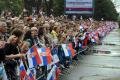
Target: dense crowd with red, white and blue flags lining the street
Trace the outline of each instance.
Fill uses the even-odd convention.
[[[65,15],[48,17],[40,14],[12,17],[7,14],[7,16],[2,16],[0,20],[0,80],[2,78],[6,80],[5,74],[8,80],[58,80],[60,67],[69,68],[71,60],[78,60],[78,51],[84,50],[88,45],[101,44],[101,39],[115,28],[118,28],[117,22],[95,21],[92,18],[71,20]],[[28,51],[33,51],[32,48],[36,46],[39,49],[49,48],[50,52],[48,52],[52,59],[48,54],[45,56],[51,59],[50,63],[46,65],[37,63],[37,60],[33,60],[33,57],[38,57],[35,53],[29,57],[36,64],[31,67],[32,62],[28,58]],[[65,48],[70,49],[71,55]],[[47,50],[45,52],[47,53]],[[39,57],[42,56],[38,54]],[[57,58],[54,57],[55,54]],[[26,72],[29,78],[24,76]],[[53,75],[53,72],[56,74]],[[54,78],[50,79],[50,75]]]

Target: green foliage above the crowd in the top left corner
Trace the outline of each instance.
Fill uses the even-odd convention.
[[[0,12],[3,10],[19,15],[23,10],[23,0],[0,0]]]

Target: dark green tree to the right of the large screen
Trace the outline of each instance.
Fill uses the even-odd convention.
[[[101,18],[104,18],[104,20],[117,20],[118,13],[111,0],[94,0],[94,1],[95,1],[94,18],[96,20],[101,20]]]

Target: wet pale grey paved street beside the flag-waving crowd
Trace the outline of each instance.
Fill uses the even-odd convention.
[[[112,31],[94,50],[72,65],[62,80],[120,80],[120,30]]]

